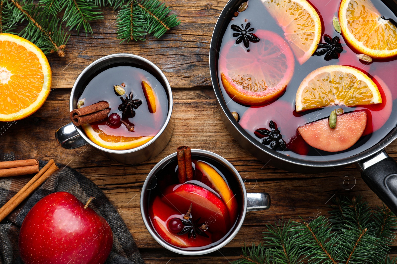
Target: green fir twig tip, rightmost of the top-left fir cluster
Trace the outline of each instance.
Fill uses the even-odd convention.
[[[90,22],[104,18],[98,6],[85,0],[64,0],[61,9],[65,9],[62,22],[66,21],[66,27],[69,27],[69,30],[76,28],[77,35],[81,25],[86,34],[87,32],[93,34]]]

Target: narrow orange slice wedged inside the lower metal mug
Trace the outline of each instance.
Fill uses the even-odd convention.
[[[237,200],[222,176],[213,167],[203,161],[194,161],[196,177],[204,184],[214,189],[224,201],[229,210],[230,222],[233,224],[237,218]]]

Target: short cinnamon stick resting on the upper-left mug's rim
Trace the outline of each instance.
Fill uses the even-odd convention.
[[[70,119],[75,125],[85,125],[88,123],[102,120],[110,113],[109,104],[99,102],[82,108],[74,109],[70,112]]]

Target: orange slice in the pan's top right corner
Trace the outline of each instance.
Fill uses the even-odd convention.
[[[370,0],[342,0],[339,22],[346,41],[361,53],[376,58],[397,54],[397,28]]]

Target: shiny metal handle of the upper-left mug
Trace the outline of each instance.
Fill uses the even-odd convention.
[[[88,142],[80,136],[73,122],[60,127],[55,132],[55,139],[62,148],[66,149],[75,149],[88,144]]]

